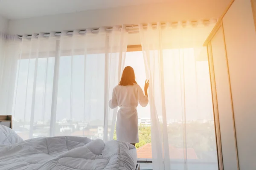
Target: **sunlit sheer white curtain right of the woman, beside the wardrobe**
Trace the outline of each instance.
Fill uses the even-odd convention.
[[[214,24],[139,26],[150,79],[154,170],[218,169],[207,50],[202,47]]]

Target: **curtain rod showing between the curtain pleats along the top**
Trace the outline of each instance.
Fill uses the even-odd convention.
[[[214,19],[211,19],[211,20],[202,20],[202,23],[203,23],[203,24],[209,24],[209,23],[211,23],[212,20],[213,20],[215,23],[217,22],[217,20],[214,18]],[[172,22],[171,25],[172,25],[172,26],[177,26],[178,23],[179,23],[179,22]],[[186,25],[186,23],[187,23],[187,21],[182,22],[183,25]],[[198,20],[191,21],[191,23],[192,23],[192,25],[193,25],[193,24],[196,24],[196,23],[198,23]],[[152,27],[156,27],[156,26],[157,26],[156,23],[152,24]],[[166,26],[166,23],[161,23],[161,26]],[[119,26],[119,27],[122,27],[122,26]],[[143,28],[147,28],[147,25],[143,25]],[[119,28],[119,29],[120,29],[120,28]],[[125,29],[126,29],[126,30],[130,30],[130,31],[128,31],[128,33],[137,33],[137,32],[139,32],[139,30],[138,30],[138,29],[139,29],[139,25],[134,25],[134,24],[128,25],[128,26],[125,27]],[[86,30],[87,30],[87,29],[80,30],[80,31],[79,31],[79,34],[84,34],[84,33],[86,33]],[[112,31],[112,30],[113,30],[113,27],[106,27],[105,30],[106,30],[106,31]],[[99,28],[92,28],[92,32],[98,32],[98,31],[99,31]],[[74,31],[67,31],[67,34],[68,34],[68,35],[72,35],[73,33],[74,33]],[[56,32],[54,35],[55,35],[55,36],[61,35],[61,32]],[[18,36],[19,36],[19,39],[22,39],[22,38],[23,38],[22,35],[18,35]],[[49,36],[50,36],[50,33],[44,33],[43,36],[44,36],[44,37],[49,37]],[[32,34],[28,34],[28,35],[26,36],[26,38],[31,38],[31,37],[32,37]],[[38,37],[38,34],[37,34],[36,37]]]

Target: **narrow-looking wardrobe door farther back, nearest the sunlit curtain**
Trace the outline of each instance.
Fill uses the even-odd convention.
[[[211,46],[221,134],[223,166],[224,170],[236,170],[237,165],[233,125],[233,108],[222,27],[218,29],[217,33],[211,40]]]

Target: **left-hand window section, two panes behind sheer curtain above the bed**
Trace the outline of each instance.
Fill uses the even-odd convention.
[[[35,62],[35,58],[17,62],[13,129],[23,139],[50,136],[55,58],[38,58],[37,69]],[[104,81],[105,54],[60,57],[55,136],[103,139]]]

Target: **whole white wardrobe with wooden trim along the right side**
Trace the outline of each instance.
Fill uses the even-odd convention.
[[[232,0],[208,49],[220,170],[256,170],[256,0]]]

